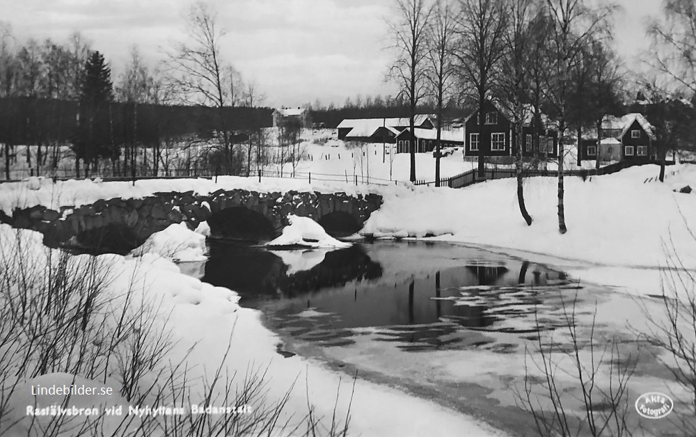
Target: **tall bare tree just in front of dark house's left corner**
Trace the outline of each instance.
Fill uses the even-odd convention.
[[[500,62],[505,57],[506,2],[503,0],[461,0],[457,56],[461,79],[473,88],[478,102],[480,144],[478,173],[484,176],[484,157],[491,148],[484,104],[500,76]]]

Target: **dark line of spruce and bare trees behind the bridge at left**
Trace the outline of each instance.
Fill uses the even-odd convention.
[[[191,6],[186,42],[173,42],[166,59],[145,65],[137,47],[118,77],[104,54],[80,33],[66,42],[19,42],[0,22],[0,153],[6,178],[16,145],[35,145],[27,164],[57,166],[68,148],[77,176],[108,166],[135,175],[139,148],[151,148],[150,169],[166,164],[161,148],[196,138],[212,146],[207,161],[224,173],[251,165],[239,145],[271,126],[264,95],[222,54],[225,33],[205,3]],[[244,134],[242,134],[244,133]],[[33,160],[33,161],[32,161]]]

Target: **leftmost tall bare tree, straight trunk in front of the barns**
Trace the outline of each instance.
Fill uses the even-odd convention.
[[[397,0],[396,19],[388,26],[394,38],[396,59],[388,77],[400,86],[400,96],[409,102],[409,132],[413,135],[418,102],[426,94],[426,29],[432,6],[424,0]],[[416,141],[411,138],[411,182],[416,182]]]

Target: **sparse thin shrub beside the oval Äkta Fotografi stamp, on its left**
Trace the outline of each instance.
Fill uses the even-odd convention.
[[[630,436],[628,381],[637,362],[616,337],[597,337],[596,309],[589,331],[578,330],[577,299],[561,296],[560,342],[535,317],[536,348],[525,350],[524,387],[516,389],[516,401],[534,418],[539,436]],[[571,395],[573,389],[580,394]]]

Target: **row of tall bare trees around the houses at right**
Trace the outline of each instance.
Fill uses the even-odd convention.
[[[478,108],[477,116],[485,120],[484,103],[492,100],[510,114],[516,138],[523,138],[525,124],[543,129],[543,115],[555,120],[558,229],[565,233],[569,146],[576,145],[580,165],[583,136],[589,130],[599,150],[607,115],[636,111],[647,116],[657,136],[661,180],[667,153],[690,146],[695,136],[693,1],[666,2],[665,17],[653,19],[647,29],[653,47],[642,54],[648,65],[643,74],[628,72],[613,49],[617,10],[610,0],[395,0],[387,23],[395,54],[389,77],[400,88],[398,98],[407,106],[411,128],[422,102],[434,102],[438,120],[452,101]],[[439,151],[440,123],[436,127]],[[480,127],[478,173],[483,176],[491,138],[484,122]],[[532,138],[533,150],[539,150],[539,136]],[[517,198],[521,215],[531,225],[523,174],[538,161],[523,159],[521,149],[516,147]],[[415,144],[411,180],[416,180]]]

